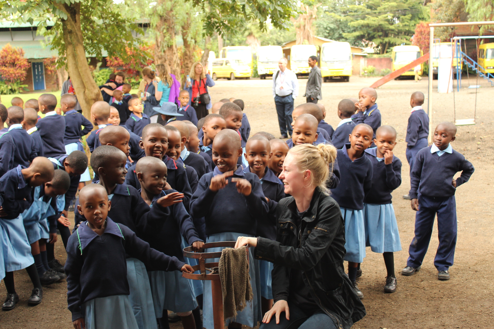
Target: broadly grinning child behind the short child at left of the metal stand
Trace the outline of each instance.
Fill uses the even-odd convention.
[[[142,130],[142,140],[139,145],[146,156],[154,156],[165,162],[166,168],[168,168],[168,176],[166,177],[166,183],[168,188],[173,188],[181,193],[184,193],[184,205],[185,208],[189,208],[190,198],[192,196],[192,190],[187,180],[187,173],[185,168],[178,165],[175,160],[166,155],[168,148],[168,134],[166,129],[160,123],[151,123]],[[137,174],[135,173],[135,164],[128,169],[128,173],[125,177],[125,184],[139,187],[139,181],[137,180]]]

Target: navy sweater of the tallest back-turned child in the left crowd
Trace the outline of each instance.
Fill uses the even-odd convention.
[[[65,119],[60,114],[47,115],[36,124],[43,141],[43,152],[46,157],[65,154]]]

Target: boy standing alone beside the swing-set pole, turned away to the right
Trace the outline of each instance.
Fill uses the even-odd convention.
[[[425,96],[422,92],[416,91],[410,98],[410,106],[412,112],[408,118],[407,126],[407,160],[410,165],[410,171],[413,168],[415,155],[419,150],[427,146],[427,138],[429,137],[429,116],[422,109]]]

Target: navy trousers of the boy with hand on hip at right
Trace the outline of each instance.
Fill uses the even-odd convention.
[[[429,248],[436,214],[439,246],[434,258],[434,266],[438,271],[447,271],[450,266],[453,266],[457,235],[454,195],[447,198],[433,198],[420,194],[418,195],[418,211],[415,214],[415,237],[408,249],[410,256],[407,266],[417,268],[422,265],[427,248]]]

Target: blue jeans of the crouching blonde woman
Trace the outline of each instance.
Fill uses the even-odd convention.
[[[285,312],[282,312],[278,325],[276,324],[276,315],[273,315],[271,321],[261,323],[259,329],[336,329],[331,318],[322,310],[310,315],[290,302],[288,302],[288,308],[290,320],[287,320]]]

